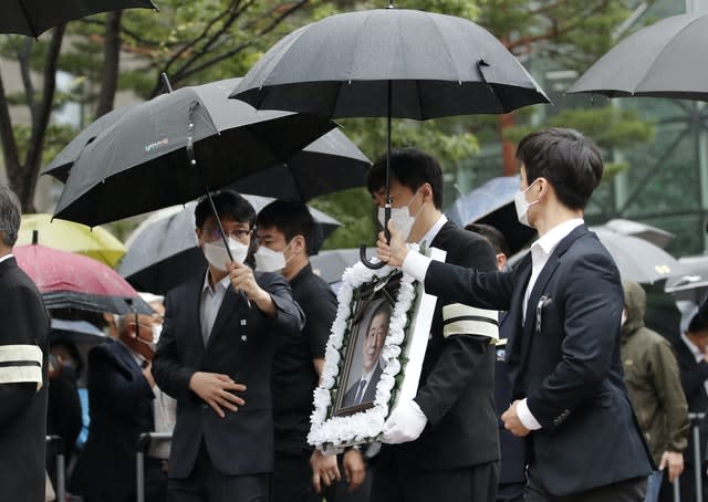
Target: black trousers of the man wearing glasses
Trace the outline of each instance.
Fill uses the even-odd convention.
[[[204,443],[195,468],[185,479],[169,479],[169,502],[268,502],[270,474],[223,475],[214,467]]]

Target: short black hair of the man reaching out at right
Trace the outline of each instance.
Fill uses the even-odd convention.
[[[525,166],[529,186],[548,179],[569,209],[584,209],[602,180],[600,148],[575,129],[551,127],[525,136],[517,159]]]

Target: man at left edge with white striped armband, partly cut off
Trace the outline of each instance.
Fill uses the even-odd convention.
[[[0,500],[44,500],[49,315],[12,247],[20,202],[0,182]]]

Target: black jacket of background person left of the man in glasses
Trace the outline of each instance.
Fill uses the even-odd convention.
[[[88,438],[70,489],[90,501],[124,502],[135,493],[142,432],[155,430],[153,389],[127,346],[114,339],[88,352]]]

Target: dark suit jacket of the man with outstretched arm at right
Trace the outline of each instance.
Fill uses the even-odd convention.
[[[522,323],[530,276],[530,255],[512,272],[433,262],[425,286],[444,299],[509,311],[512,397],[528,398],[542,426],[529,436],[530,454],[551,493],[647,475],[653,466],[620,358],[622,284],[607,250],[584,224],[575,228],[549,257]]]

